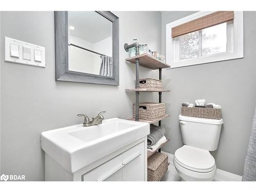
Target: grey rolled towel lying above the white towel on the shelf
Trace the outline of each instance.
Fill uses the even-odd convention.
[[[150,125],[150,134],[147,135],[147,147],[155,145],[165,134],[164,127],[154,124]]]

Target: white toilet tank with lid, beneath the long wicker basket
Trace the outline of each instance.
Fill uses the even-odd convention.
[[[223,120],[179,116],[182,141],[185,145],[215,151],[218,148]]]

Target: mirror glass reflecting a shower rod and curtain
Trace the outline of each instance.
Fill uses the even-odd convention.
[[[112,22],[95,11],[69,11],[69,71],[113,77]]]

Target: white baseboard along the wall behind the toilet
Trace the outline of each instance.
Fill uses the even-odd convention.
[[[162,153],[168,155],[169,163],[171,165],[174,165],[173,164],[174,155],[167,153],[167,152],[163,152],[163,151],[162,151]],[[221,170],[221,169],[217,168],[216,175],[214,177],[214,181],[242,181],[242,176],[232,174],[232,173],[226,172],[225,170]]]

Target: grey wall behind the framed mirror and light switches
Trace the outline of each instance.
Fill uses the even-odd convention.
[[[82,123],[84,113],[94,117],[106,110],[105,118],[131,118],[135,94],[135,65],[126,63],[125,42],[137,37],[152,49],[161,49],[160,12],[114,12],[120,21],[120,86],[56,82],[53,12],[2,12],[1,48],[4,36],[46,48],[46,68],[4,61],[1,52],[1,167],[5,174],[24,174],[27,180],[44,180],[44,153],[40,133]],[[140,22],[134,22],[140,18]],[[136,29],[136,31],[135,31]],[[153,75],[140,68],[140,77]],[[143,97],[143,94],[141,94]],[[141,98],[142,98],[141,97]],[[147,98],[154,98],[151,94]],[[143,98],[140,100],[143,101]]]

